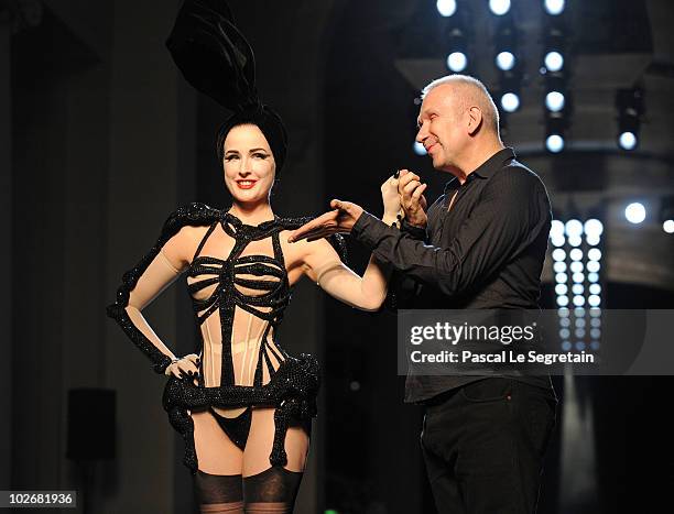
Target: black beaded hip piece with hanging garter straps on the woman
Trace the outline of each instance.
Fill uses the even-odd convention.
[[[194,422],[187,411],[220,407],[235,408],[247,406],[275,407],[274,442],[269,461],[272,466],[285,466],[285,434],[292,420],[308,422],[316,416],[316,395],[320,386],[318,361],[301,353],[298,358],[289,357],[281,363],[268,384],[261,387],[247,385],[225,385],[200,387],[189,379],[171,378],[164,387],[163,405],[168,422],[185,441],[183,463],[196,473],[198,461],[194,446]]]

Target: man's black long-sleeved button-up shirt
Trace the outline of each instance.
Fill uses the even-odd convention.
[[[363,212],[351,231],[380,261],[421,284],[415,308],[539,308],[552,212],[545,186],[512,149],[497,152],[464,184],[450,181],[427,217],[426,230],[405,225],[399,231]],[[405,401],[482,378],[410,375]],[[518,379],[550,387],[548,378]]]

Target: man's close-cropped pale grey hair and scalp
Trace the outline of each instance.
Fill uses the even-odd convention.
[[[437,92],[443,92],[444,95],[444,90],[446,90],[447,101],[452,101],[455,105],[457,113],[464,112],[471,107],[479,108],[482,113],[485,129],[496,134],[500,140],[499,110],[481,81],[469,75],[447,75],[428,84],[422,90],[422,99],[436,88],[442,88],[443,91],[438,89]]]

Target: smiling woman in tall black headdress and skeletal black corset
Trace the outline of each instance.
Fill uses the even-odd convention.
[[[205,30],[206,22],[217,30]],[[196,41],[195,34],[210,40]],[[219,83],[199,81],[195,56],[203,59],[216,46],[226,54],[216,56],[217,64],[225,59],[231,69]],[[252,51],[226,6],[185,2],[170,48],[193,85],[204,90],[208,84],[213,89],[205,92],[238,102],[217,143],[232,203],[222,210],[192,204],[171,215],[154,248],[124,275],[108,314],[155,371],[170,376],[164,407],[184,436],[202,512],[292,512],[316,413],[318,365],[311,356],[289,356],[276,340],[290,291],[306,275],[341,302],[376,310],[385,297],[387,275],[371,259],[358,276],[325,239],[287,242],[307,219],[278,218],[270,205],[286,155],[285,129],[257,99]],[[400,209],[396,183],[391,177],[382,186],[389,223]],[[200,348],[178,359],[142,310],[182,274]]]

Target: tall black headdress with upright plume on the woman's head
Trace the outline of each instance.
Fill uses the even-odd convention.
[[[276,162],[276,176],[287,154],[287,133],[279,114],[264,106],[256,87],[256,58],[233,24],[224,0],[185,0],[166,46],[185,79],[197,90],[233,111],[218,131],[216,150],[237,125],[260,128]]]

